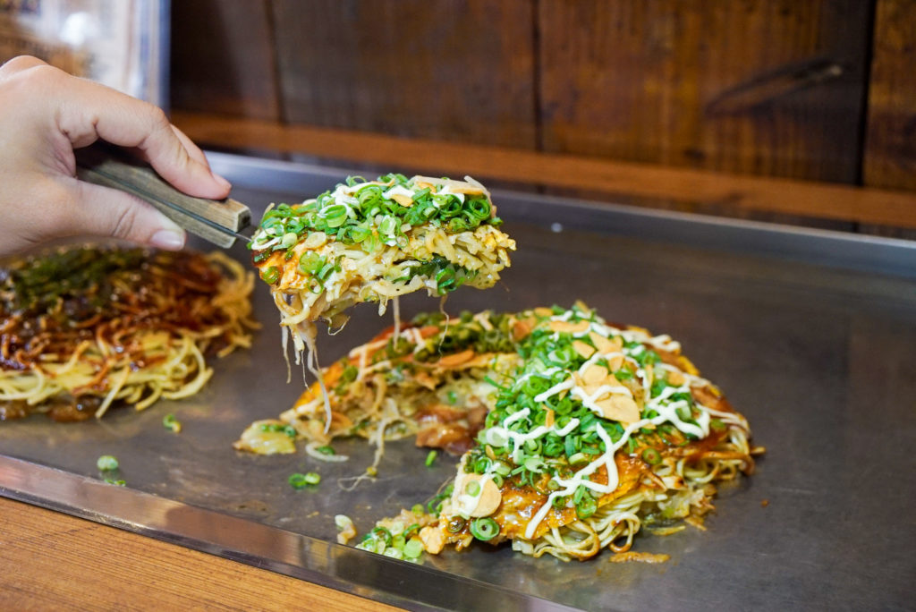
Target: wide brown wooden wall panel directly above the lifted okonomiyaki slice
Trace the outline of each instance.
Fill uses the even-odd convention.
[[[530,0],[275,0],[284,119],[534,147]]]

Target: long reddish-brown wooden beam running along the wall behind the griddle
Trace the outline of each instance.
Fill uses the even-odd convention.
[[[916,193],[906,191],[664,168],[215,115],[176,112],[172,121],[203,146],[301,153],[390,169],[456,177],[469,174],[618,196],[714,204],[736,211],[916,227]]]

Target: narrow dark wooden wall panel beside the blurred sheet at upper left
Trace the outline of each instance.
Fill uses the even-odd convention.
[[[171,104],[279,119],[269,0],[171,3]]]

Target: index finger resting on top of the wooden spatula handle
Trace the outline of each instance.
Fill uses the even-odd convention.
[[[137,148],[181,191],[212,199],[229,194],[229,182],[213,174],[200,148],[172,126],[161,109],[98,83],[67,78],[72,82],[67,83],[67,98],[60,101],[58,126],[73,147],[102,138]]]

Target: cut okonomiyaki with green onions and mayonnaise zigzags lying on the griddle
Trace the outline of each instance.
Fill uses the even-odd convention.
[[[475,539],[563,560],[627,552],[644,525],[700,525],[715,483],[750,474],[762,451],[679,343],[609,324],[581,304],[421,315],[397,340],[388,330],[325,376],[330,431],[316,385],[237,446],[256,450],[252,441],[286,428],[289,452],[295,439],[314,449],[337,436],[380,444],[415,435],[418,445],[462,454],[429,512],[384,519],[359,544],[375,552],[406,531],[432,553]]]

